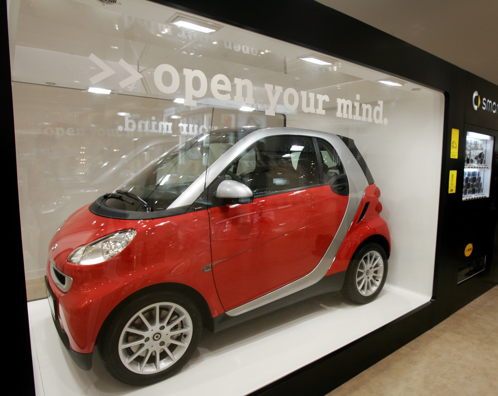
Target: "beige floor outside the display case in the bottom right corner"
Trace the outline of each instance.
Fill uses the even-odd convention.
[[[327,396],[498,395],[498,286]]]

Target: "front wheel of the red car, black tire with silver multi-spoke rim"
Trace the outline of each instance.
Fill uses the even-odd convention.
[[[100,358],[125,384],[154,384],[185,366],[202,328],[201,313],[188,296],[166,291],[142,295],[106,320],[98,340]]]

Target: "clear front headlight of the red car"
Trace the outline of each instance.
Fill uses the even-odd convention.
[[[75,249],[67,258],[69,263],[91,265],[103,263],[121,253],[135,238],[135,230],[124,230]]]

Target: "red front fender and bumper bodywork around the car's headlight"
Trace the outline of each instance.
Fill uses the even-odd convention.
[[[224,312],[212,271],[202,270],[211,264],[207,211],[141,222],[121,220],[116,227],[115,219],[102,218],[85,209],[86,212],[79,211],[80,216],[73,220],[93,223],[97,219],[104,228],[99,231],[100,236],[126,228],[137,230],[137,234],[116,257],[101,264],[76,265],[66,259],[77,246],[69,249],[69,245],[65,245],[63,236],[69,233],[61,229],[60,250],[64,254],[54,255],[52,260],[73,278],[73,283],[67,293],[62,293],[48,277],[57,305],[60,303],[63,310],[71,348],[76,352],[92,352],[100,328],[112,310],[126,297],[154,284],[176,283],[184,289],[191,288],[207,302],[212,317]],[[80,227],[79,224],[67,226],[76,231]],[[89,239],[92,238],[97,239]],[[64,327],[66,324],[62,323]]]

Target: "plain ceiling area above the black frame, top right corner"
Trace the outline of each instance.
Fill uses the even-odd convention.
[[[498,84],[497,0],[318,0]]]

